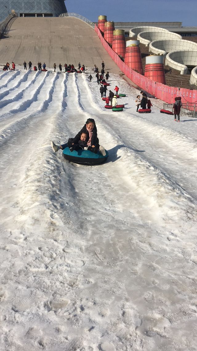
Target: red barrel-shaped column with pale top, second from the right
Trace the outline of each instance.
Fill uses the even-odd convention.
[[[125,51],[125,64],[136,72],[143,74],[142,58],[139,40],[127,40]]]

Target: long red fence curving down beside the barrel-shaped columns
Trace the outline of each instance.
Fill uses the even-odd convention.
[[[111,49],[108,43],[103,38],[99,28],[95,25],[94,30],[98,34],[102,45],[105,50],[111,56],[112,60],[117,64],[121,71],[132,80],[141,89],[147,91],[151,95],[154,95],[157,99],[161,99],[168,104],[172,104],[176,96],[181,96],[183,103],[193,103],[197,102],[197,91],[185,88],[169,87],[162,83],[154,82],[138,72],[133,71],[132,68],[125,65],[125,63],[119,58],[119,56]],[[180,89],[180,90],[179,90]]]

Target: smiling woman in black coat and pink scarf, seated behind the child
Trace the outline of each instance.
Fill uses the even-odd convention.
[[[80,132],[75,136],[75,138],[69,138],[68,143],[58,146],[58,145],[55,145],[53,141],[51,141],[51,146],[53,150],[57,152],[59,149],[64,150],[65,147],[67,146],[69,148],[72,148],[73,145],[78,144],[81,138],[81,134],[83,132],[86,132],[89,134],[89,138],[87,138],[88,139],[87,150],[90,150],[91,152],[94,152],[94,153],[97,153],[97,151],[99,150],[100,153],[103,156],[105,156],[106,155],[105,148],[99,145],[99,140],[97,138],[97,127],[93,118],[88,118],[87,121],[85,122],[85,125],[80,130]]]

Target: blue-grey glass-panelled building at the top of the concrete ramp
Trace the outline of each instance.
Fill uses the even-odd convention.
[[[0,22],[12,10],[21,17],[58,17],[67,12],[64,0],[0,0]]]

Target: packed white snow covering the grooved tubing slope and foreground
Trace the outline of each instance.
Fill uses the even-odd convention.
[[[0,350],[197,350],[197,119],[87,73],[0,72]],[[50,146],[87,118],[103,165]]]

